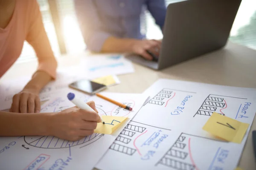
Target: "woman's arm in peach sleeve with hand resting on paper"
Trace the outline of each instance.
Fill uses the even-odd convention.
[[[39,113],[41,108],[39,92],[56,77],[57,62],[44,30],[36,0],[30,1],[28,15],[26,40],[32,45],[38,57],[38,70],[24,89],[13,97],[10,111],[16,113]]]

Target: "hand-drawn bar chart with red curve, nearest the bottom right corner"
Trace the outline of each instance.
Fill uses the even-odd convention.
[[[171,170],[233,170],[229,142],[181,133],[155,164],[155,169]],[[226,164],[225,164],[226,163]],[[229,168],[228,168],[229,167]]]

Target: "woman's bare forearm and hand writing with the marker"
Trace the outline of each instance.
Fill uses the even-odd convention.
[[[96,110],[94,102],[88,102]],[[101,122],[95,112],[77,107],[58,113],[9,113],[0,111],[0,136],[57,136],[76,141],[93,134],[97,122]]]

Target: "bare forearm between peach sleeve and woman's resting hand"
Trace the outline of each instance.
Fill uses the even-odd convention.
[[[44,71],[37,71],[24,89],[33,89],[36,92],[40,92],[41,89],[47,85],[47,83],[52,79],[52,77]]]

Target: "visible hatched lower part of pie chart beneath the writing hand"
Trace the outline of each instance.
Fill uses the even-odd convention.
[[[67,147],[74,147],[77,145],[85,147],[88,144],[96,142],[102,136],[104,136],[104,134],[93,133],[92,135],[85,136],[78,141],[67,141],[59,139],[55,136],[24,136],[24,141],[26,142],[26,144],[33,147],[39,147],[44,149],[61,149]]]

